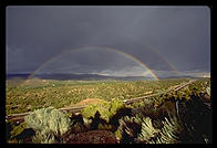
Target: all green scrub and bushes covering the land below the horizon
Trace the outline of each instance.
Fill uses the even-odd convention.
[[[32,85],[31,81],[38,83]],[[8,82],[7,115],[32,112],[23,123],[7,120],[8,142],[210,144],[211,107],[205,104],[210,103],[210,80],[200,78],[177,92],[164,93],[187,82],[29,80],[24,85]],[[123,102],[161,92],[128,105]],[[85,104],[80,114],[58,110],[81,105],[89,98],[97,102]],[[101,136],[89,141],[91,133],[110,138],[102,140]]]

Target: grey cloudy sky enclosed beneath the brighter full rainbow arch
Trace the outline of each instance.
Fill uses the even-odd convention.
[[[103,49],[85,49],[66,51],[56,59],[51,60],[38,72],[59,72],[59,73],[103,73],[111,74],[112,71],[123,72],[134,71],[134,75],[144,75],[147,70],[141,63],[124,54]],[[128,73],[128,72],[127,72]],[[136,74],[137,73],[137,74]],[[133,75],[132,72],[128,74]]]

